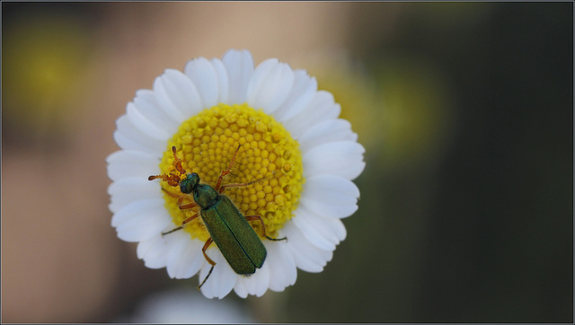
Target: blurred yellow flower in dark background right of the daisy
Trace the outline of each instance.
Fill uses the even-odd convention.
[[[434,160],[453,127],[453,99],[445,76],[429,62],[411,57],[382,60],[376,74],[385,107],[378,124],[386,162]]]

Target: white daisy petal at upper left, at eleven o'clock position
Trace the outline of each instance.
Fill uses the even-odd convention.
[[[202,109],[199,92],[190,78],[180,71],[166,69],[164,75],[155,78],[155,100],[165,114],[182,122]]]

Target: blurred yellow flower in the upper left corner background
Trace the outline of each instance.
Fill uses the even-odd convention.
[[[72,125],[86,90],[91,40],[64,13],[14,13],[4,26],[3,115],[11,130],[50,134]]]

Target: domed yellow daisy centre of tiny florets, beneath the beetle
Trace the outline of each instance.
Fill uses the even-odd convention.
[[[216,186],[221,171],[227,169],[238,145],[232,171],[224,176],[222,185],[229,183],[255,183],[226,188],[222,195],[230,198],[243,215],[261,215],[268,236],[275,238],[277,231],[293,215],[304,183],[302,157],[299,145],[288,131],[261,110],[247,104],[218,104],[184,121],[178,132],[168,141],[160,163],[163,173],[173,171],[172,146],[175,145],[181,165],[186,172],[196,172],[200,182]],[[182,196],[180,188],[166,182],[162,187]],[[193,202],[183,195],[182,205]],[[164,194],[165,206],[177,226],[199,213],[199,206],[180,209],[178,198]],[[261,224],[250,222],[262,237]],[[192,238],[209,238],[201,218],[185,225]]]

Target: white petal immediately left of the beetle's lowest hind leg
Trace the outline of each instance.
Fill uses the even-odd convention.
[[[188,278],[198,273],[204,262],[201,252],[203,242],[192,240],[190,233],[177,231],[165,236],[173,237],[173,246],[168,253],[166,269],[172,278]]]

